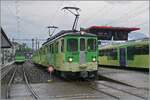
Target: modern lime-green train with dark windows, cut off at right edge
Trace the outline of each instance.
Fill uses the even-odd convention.
[[[149,39],[99,46],[99,65],[119,68],[149,68]]]

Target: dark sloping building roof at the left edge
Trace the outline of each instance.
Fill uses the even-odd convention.
[[[12,44],[1,27],[1,48],[11,48]]]

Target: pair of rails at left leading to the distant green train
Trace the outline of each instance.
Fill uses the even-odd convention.
[[[7,91],[6,91],[6,99],[10,99],[11,98],[11,87],[12,87],[12,83],[15,79],[15,77],[17,76],[17,70],[18,70],[18,66],[15,67],[15,70],[9,80],[9,83],[7,85]],[[21,69],[22,69],[22,81],[23,81],[23,84],[27,86],[27,89],[28,89],[28,92],[30,92],[30,96],[36,100],[39,100],[39,96],[36,94],[36,92],[34,91],[34,89],[32,88],[32,86],[29,84],[29,80],[28,80],[28,76],[27,76],[27,73],[24,69],[24,66],[23,65],[20,65]]]

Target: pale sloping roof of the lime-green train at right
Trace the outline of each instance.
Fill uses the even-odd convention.
[[[112,48],[118,48],[118,47],[127,47],[127,46],[142,46],[142,45],[149,45],[150,39],[143,39],[143,40],[134,40],[134,41],[127,41],[127,42],[122,42],[122,43],[115,43],[115,44],[109,44],[109,45],[104,45],[104,46],[99,46],[99,49],[112,49]]]

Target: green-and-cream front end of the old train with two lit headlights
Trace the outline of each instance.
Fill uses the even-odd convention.
[[[95,78],[98,65],[97,37],[92,34],[70,35],[65,37],[65,42],[62,71],[68,76]]]

